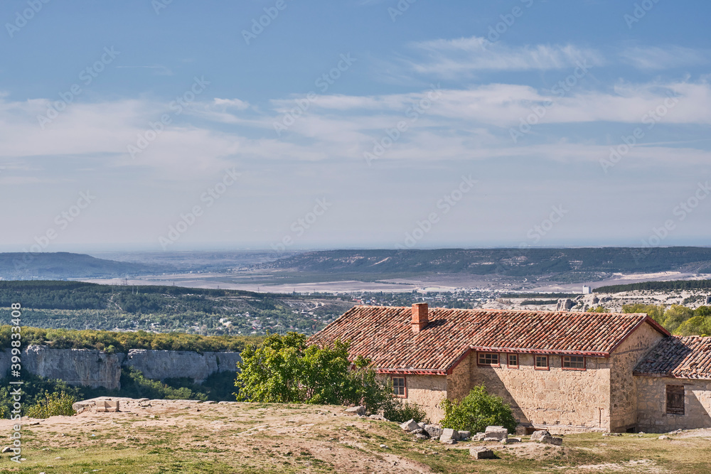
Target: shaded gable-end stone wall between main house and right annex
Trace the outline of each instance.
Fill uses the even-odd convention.
[[[637,362],[664,336],[644,323],[610,355],[610,431],[637,424],[637,389],[632,375]]]

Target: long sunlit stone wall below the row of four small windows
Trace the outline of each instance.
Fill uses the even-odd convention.
[[[548,355],[550,370],[535,370],[532,354],[518,355],[518,368],[477,365],[470,355],[471,385],[483,384],[511,405],[520,423],[555,433],[609,429],[610,370],[604,358],[586,357],[587,370],[563,370],[560,355]]]

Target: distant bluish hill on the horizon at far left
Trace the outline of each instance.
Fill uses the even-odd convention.
[[[102,278],[146,274],[158,269],[69,252],[0,253],[0,278],[6,280]]]

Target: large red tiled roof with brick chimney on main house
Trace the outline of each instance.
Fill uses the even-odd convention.
[[[410,307],[355,306],[309,342],[351,340],[351,357],[368,357],[379,372],[444,374],[469,350],[608,357],[643,323],[668,335],[646,314],[429,308],[417,334],[411,319]]]

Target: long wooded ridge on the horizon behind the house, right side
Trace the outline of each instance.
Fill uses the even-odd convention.
[[[474,274],[544,276],[550,274],[708,271],[711,248],[604,247],[573,249],[328,250],[306,252],[260,269],[322,274]]]

